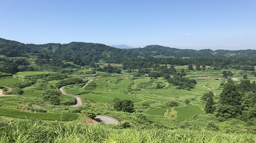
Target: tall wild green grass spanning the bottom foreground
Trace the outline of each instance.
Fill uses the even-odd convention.
[[[190,130],[113,129],[108,125],[63,124],[53,121],[7,121],[0,119],[0,143],[255,143],[254,134],[226,134]]]

